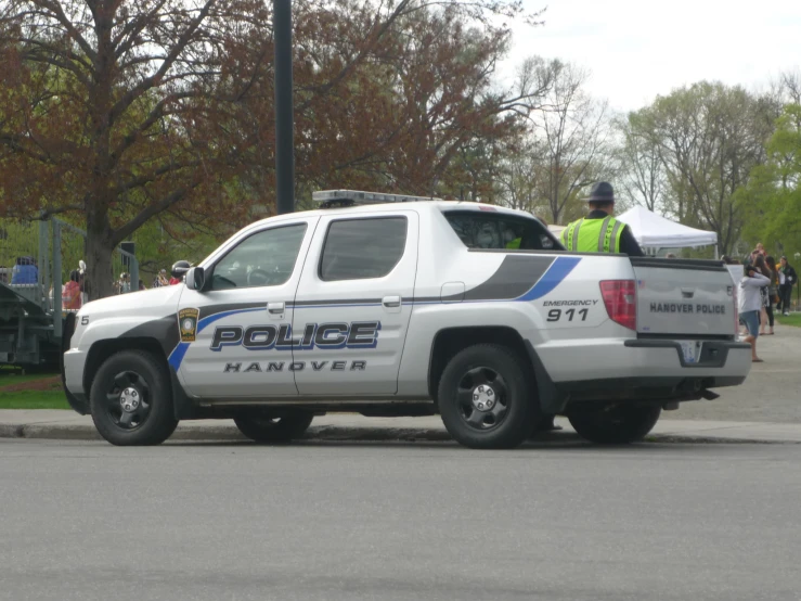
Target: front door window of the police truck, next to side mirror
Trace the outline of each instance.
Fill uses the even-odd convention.
[[[263,230],[249,235],[216,265],[211,290],[276,286],[292,277],[306,223]]]

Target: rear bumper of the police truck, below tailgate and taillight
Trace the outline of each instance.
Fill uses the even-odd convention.
[[[670,340],[576,341],[545,344],[537,354],[556,410],[584,400],[695,400],[742,384],[751,369],[750,345],[729,341],[703,341],[697,363],[686,363]]]

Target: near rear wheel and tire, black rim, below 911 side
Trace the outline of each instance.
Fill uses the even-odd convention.
[[[457,353],[445,366],[437,394],[449,434],[474,449],[519,446],[539,413],[528,372],[505,346],[479,344]]]

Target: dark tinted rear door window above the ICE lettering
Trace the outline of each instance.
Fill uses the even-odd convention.
[[[405,217],[334,221],[325,236],[320,279],[383,278],[398,265],[405,247]]]

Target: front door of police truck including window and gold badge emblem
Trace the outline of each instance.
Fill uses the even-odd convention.
[[[297,395],[293,305],[318,220],[293,219],[247,232],[206,267],[208,290],[183,292],[179,374],[190,395],[216,399]],[[196,331],[184,336],[193,318]],[[170,362],[175,366],[172,357]]]

